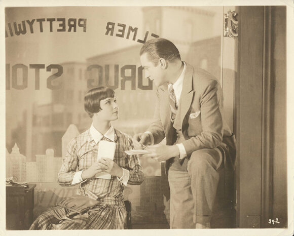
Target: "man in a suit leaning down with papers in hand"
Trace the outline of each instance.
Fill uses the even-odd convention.
[[[140,50],[145,76],[157,89],[155,121],[134,140],[145,157],[165,161],[170,186],[170,228],[210,228],[218,170],[235,167],[235,137],[222,114],[223,92],[215,77],[181,61],[164,38]]]

